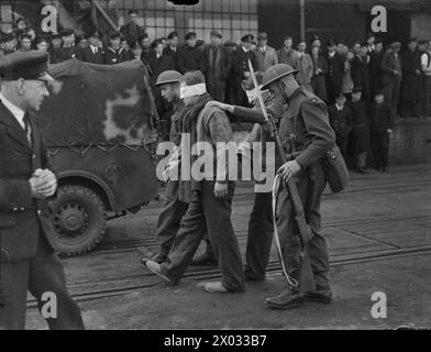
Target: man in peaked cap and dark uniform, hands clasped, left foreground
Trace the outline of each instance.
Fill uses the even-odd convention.
[[[27,290],[51,329],[84,329],[55,255],[48,200],[55,196],[57,179],[33,114],[49,95],[47,57],[30,52],[0,59],[0,330],[25,328]]]

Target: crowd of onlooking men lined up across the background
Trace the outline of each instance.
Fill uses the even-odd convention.
[[[401,52],[401,43],[385,47],[374,34],[364,42],[355,42],[351,48],[332,40],[323,45],[317,36],[310,45],[299,42],[295,48],[292,38],[286,36],[283,47],[275,50],[267,45],[266,33],[259,33],[257,41],[247,34],[239,44],[231,41],[223,44],[222,33],[216,30],[209,40],[206,44],[195,32],[189,32],[180,44],[177,32],[172,32],[152,42],[145,29],[137,24],[136,11],[132,10],[129,22],[119,32],[109,34],[93,31],[76,36],[73,30],[66,29],[48,37],[37,37],[19,19],[16,29],[1,36],[0,55],[38,50],[49,54],[51,64],[71,57],[99,65],[141,59],[167,131],[173,107],[162,99],[155,85],[162,73],[200,70],[212,98],[250,107],[241,87],[250,75],[248,59],[259,72],[278,63],[288,64],[298,70],[296,79],[301,87],[332,106],[330,118],[338,144],[350,168],[360,173],[366,173],[367,165],[387,170],[389,135],[397,117],[431,114],[431,41],[411,38]]]

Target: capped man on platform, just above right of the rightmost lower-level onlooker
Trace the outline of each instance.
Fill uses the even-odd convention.
[[[390,51],[385,54],[382,61],[383,92],[385,95],[386,102],[393,109],[394,117],[397,117],[398,112],[397,107],[402,80],[402,64],[399,55],[400,48],[401,43],[394,42],[390,44]]]

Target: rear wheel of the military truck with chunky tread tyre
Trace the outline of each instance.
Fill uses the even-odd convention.
[[[73,256],[90,252],[107,231],[103,201],[84,186],[62,186],[57,194],[51,207],[59,254]]]

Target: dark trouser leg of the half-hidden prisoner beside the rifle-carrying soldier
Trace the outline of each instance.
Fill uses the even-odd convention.
[[[273,235],[273,195],[272,193],[256,194],[248,221],[244,272],[247,278],[262,279],[265,277]]]

